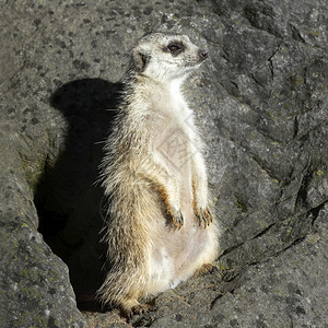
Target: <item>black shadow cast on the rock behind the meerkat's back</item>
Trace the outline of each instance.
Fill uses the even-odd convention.
[[[67,122],[65,127],[59,119],[65,141],[49,131],[49,143],[58,142],[51,148],[60,148],[60,153],[54,155],[56,161],[48,156],[34,202],[38,231],[68,265],[78,300],[79,294],[92,296],[103,282],[103,190],[96,181],[121,89],[121,83],[82,79],[61,85],[50,97],[51,107]]]

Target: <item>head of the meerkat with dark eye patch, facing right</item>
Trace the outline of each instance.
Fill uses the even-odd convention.
[[[132,68],[154,80],[184,79],[199,67],[208,54],[187,35],[153,33],[140,39],[132,50]]]

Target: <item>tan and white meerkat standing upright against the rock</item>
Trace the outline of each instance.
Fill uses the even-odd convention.
[[[181,92],[207,58],[188,36],[166,33],[132,50],[102,163],[110,269],[97,292],[128,317],[147,308],[139,298],[175,288],[218,255],[203,147]]]

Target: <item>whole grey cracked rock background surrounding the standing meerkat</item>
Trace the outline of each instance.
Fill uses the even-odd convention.
[[[328,327],[326,2],[2,1],[0,327]],[[104,278],[102,142],[152,31],[209,50],[186,95],[221,256],[127,324],[74,292]]]

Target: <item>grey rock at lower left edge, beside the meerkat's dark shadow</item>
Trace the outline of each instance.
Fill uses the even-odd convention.
[[[7,130],[7,133],[14,133]],[[3,129],[0,141],[0,326],[84,327],[67,266],[37,232],[33,192]]]

